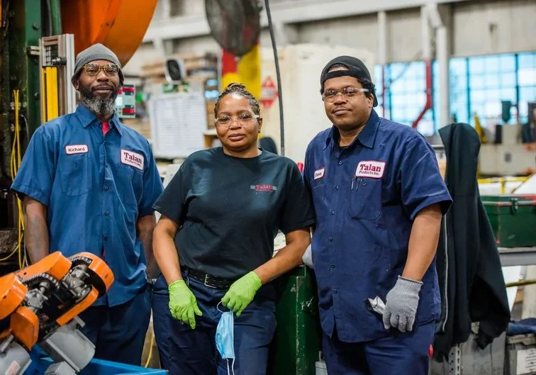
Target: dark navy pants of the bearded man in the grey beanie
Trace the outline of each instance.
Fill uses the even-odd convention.
[[[95,345],[95,357],[140,366],[151,316],[150,289],[118,306],[92,306],[79,315],[82,333]]]

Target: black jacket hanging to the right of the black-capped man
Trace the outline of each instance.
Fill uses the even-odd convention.
[[[464,123],[448,125],[439,133],[447,155],[445,181],[454,201],[437,249],[437,273],[446,301],[442,298],[443,320],[435,336],[434,357],[442,360],[454,345],[467,341],[471,322],[480,322],[476,342],[486,347],[506,330],[510,308],[501,259],[476,181],[479,136]]]

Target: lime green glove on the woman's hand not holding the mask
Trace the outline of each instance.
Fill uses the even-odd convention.
[[[167,287],[169,291],[169,311],[172,317],[189,324],[191,329],[196,328],[196,316],[203,315],[197,307],[196,296],[186,286],[184,280],[173,281]]]

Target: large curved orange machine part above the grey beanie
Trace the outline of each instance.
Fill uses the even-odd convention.
[[[74,34],[74,52],[102,43],[121,65],[142,43],[157,0],[62,0],[62,33]]]

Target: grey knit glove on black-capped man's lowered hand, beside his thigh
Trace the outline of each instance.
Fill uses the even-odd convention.
[[[400,332],[413,330],[415,315],[419,306],[419,291],[423,283],[398,276],[393,289],[387,293],[384,327],[397,328]]]

